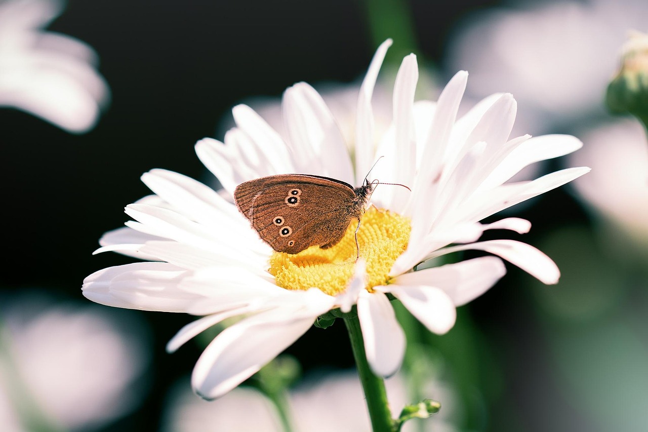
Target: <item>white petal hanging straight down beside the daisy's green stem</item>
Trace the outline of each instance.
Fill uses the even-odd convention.
[[[369,366],[378,376],[392,376],[405,354],[405,334],[387,296],[378,291],[360,292],[358,318]]]

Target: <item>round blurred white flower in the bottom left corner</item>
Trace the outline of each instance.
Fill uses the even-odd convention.
[[[134,384],[148,365],[141,323],[40,296],[4,300],[1,431],[29,430],[18,424],[34,409],[55,426],[87,431],[140,402],[143,383]]]

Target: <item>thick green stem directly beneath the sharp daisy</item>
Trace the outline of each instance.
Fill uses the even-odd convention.
[[[356,360],[358,375],[362,382],[373,432],[393,432],[395,423],[391,418],[391,411],[389,411],[385,383],[382,378],[379,378],[371,371],[369,363],[367,363],[360,320],[358,317],[349,317],[344,319],[344,323],[347,326],[347,331],[349,331],[353,357]]]

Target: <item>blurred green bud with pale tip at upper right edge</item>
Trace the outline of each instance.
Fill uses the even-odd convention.
[[[608,84],[605,104],[612,114],[648,118],[648,34],[633,31],[621,49],[621,67]]]

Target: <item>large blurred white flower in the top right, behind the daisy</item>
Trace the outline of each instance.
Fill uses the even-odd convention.
[[[474,14],[450,39],[446,66],[470,71],[476,97],[511,91],[527,132],[603,113],[629,29],[647,25],[645,0],[530,3]],[[533,109],[535,108],[535,109]]]

